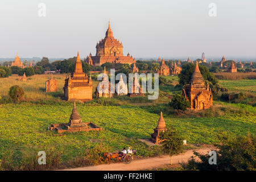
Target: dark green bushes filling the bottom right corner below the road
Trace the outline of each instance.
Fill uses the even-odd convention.
[[[218,148],[217,163],[209,164],[210,156],[202,155],[194,152],[195,156],[201,160],[197,162],[195,157],[188,161],[188,164],[183,164],[187,170],[210,170],[210,171],[243,171],[256,170],[256,138],[250,137],[222,137],[221,144],[216,144]]]

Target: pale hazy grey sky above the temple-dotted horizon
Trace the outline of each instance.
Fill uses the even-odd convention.
[[[256,57],[255,0],[1,0],[0,57],[95,55],[108,20],[124,55]]]

